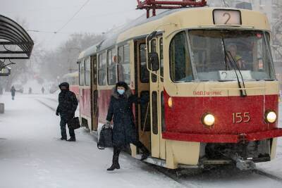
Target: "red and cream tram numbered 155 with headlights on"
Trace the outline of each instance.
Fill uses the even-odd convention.
[[[81,122],[97,131],[123,80],[150,96],[134,108],[148,163],[175,169],[235,161],[247,169],[271,161],[282,130],[270,35],[266,15],[243,9],[138,18],[80,54]]]

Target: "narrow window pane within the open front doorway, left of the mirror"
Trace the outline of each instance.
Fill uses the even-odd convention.
[[[139,46],[140,53],[140,81],[142,83],[149,82],[149,71],[147,70],[147,50],[146,44],[140,44]]]

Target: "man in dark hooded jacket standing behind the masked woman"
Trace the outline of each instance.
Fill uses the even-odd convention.
[[[59,106],[56,110],[56,115],[61,115],[61,140],[66,140],[66,124],[68,120],[71,120],[75,116],[76,108],[78,107],[78,99],[73,92],[69,90],[69,84],[63,82],[59,84],[61,92],[59,94]],[[68,139],[69,142],[75,142],[75,130],[71,127],[68,127],[70,132],[71,139]]]

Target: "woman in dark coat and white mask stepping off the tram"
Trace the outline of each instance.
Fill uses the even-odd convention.
[[[114,122],[113,127],[113,145],[114,156],[113,164],[107,170],[119,169],[118,156],[121,149],[128,144],[134,144],[142,150],[142,158],[144,160],[149,156],[149,151],[146,147],[137,140],[134,115],[132,104],[137,101],[137,96],[134,96],[125,82],[116,83],[111,95],[108,115],[106,116],[106,126],[111,125],[111,120]]]

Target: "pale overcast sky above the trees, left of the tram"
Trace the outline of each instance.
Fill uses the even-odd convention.
[[[73,32],[102,33],[115,25],[137,18],[145,11],[135,10],[135,0],[90,0],[61,33],[58,31],[87,0],[0,0],[0,14],[27,22],[26,30],[35,44],[54,49]]]

